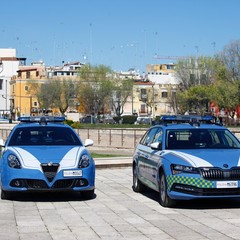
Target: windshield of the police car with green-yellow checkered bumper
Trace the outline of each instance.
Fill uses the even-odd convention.
[[[226,129],[167,130],[166,149],[233,149],[240,148],[238,139]]]

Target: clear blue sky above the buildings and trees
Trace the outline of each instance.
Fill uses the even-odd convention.
[[[114,71],[214,56],[240,39],[240,0],[1,0],[0,48],[27,64]]]

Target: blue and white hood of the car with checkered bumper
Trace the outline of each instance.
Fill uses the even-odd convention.
[[[240,149],[165,150],[162,155],[174,163],[183,161],[194,167],[240,166]]]

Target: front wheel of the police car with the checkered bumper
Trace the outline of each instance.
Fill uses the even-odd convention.
[[[163,207],[173,207],[176,201],[171,199],[167,193],[167,181],[166,176],[163,171],[160,173],[160,183],[159,183],[159,203]]]

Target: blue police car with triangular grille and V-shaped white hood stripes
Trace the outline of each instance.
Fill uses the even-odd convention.
[[[21,191],[79,191],[94,197],[95,163],[62,117],[21,117],[0,159],[1,198]]]

